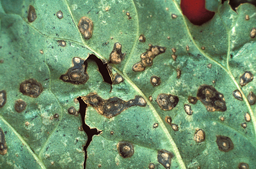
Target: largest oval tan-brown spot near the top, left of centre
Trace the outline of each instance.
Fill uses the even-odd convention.
[[[86,16],[82,16],[78,22],[78,29],[85,39],[89,39],[93,35],[93,21]]]

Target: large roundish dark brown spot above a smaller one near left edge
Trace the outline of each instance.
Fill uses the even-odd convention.
[[[43,91],[43,86],[40,82],[31,78],[21,83],[20,91],[24,95],[28,95],[30,97],[38,97]]]

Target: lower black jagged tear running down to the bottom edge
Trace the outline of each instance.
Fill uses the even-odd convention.
[[[93,136],[99,135],[102,131],[99,130],[98,128],[91,128],[89,125],[86,124],[85,117],[86,117],[86,109],[88,105],[81,99],[81,97],[77,97],[77,100],[79,101],[79,113],[81,114],[82,129],[84,130],[84,132],[86,132],[88,137],[86,145],[83,146],[83,150],[85,152],[83,168],[86,168],[87,148],[90,145],[91,141],[93,140]]]

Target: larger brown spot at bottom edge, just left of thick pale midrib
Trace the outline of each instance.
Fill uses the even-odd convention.
[[[166,169],[170,168],[170,164],[172,161],[172,158],[174,157],[174,154],[172,152],[169,152],[165,149],[161,149],[157,153],[157,160],[162,166],[164,166]]]

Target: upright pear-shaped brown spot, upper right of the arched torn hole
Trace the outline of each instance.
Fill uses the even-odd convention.
[[[122,53],[122,45],[119,42],[116,42],[110,53],[109,60],[111,63],[119,64],[124,59],[125,54],[126,53]]]

